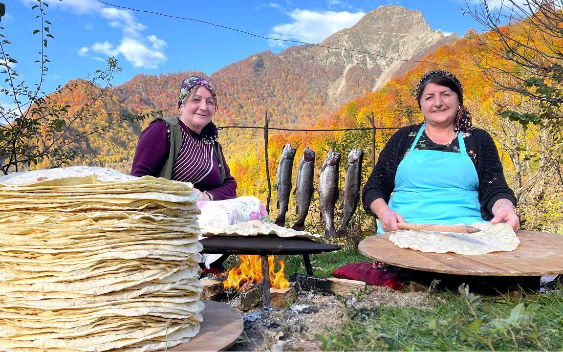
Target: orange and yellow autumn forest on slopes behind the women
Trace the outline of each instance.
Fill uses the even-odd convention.
[[[561,29],[561,23],[559,26]],[[509,29],[505,26],[502,30]],[[546,40],[549,34],[534,28],[513,26],[510,30],[521,41],[533,42],[530,44],[532,47],[544,52],[561,53],[561,36]],[[320,166],[328,149],[341,152],[344,161],[348,152],[355,147],[365,152],[362,173],[365,181],[372,168],[372,158],[377,160],[379,150],[396,128],[423,121],[413,95],[420,77],[428,70],[446,69],[457,75],[463,83],[464,104],[473,115],[473,124],[489,131],[497,142],[505,175],[517,195],[522,228],[548,232],[563,230],[561,130],[557,130],[553,123],[522,123],[507,118],[507,111],[521,112],[524,108],[528,109],[526,111],[538,110],[541,106],[538,108],[533,100],[523,97],[519,92],[499,86],[499,77],[502,77],[500,72],[517,73],[519,68],[495,50],[498,39],[499,34],[493,31],[470,31],[464,37],[436,48],[418,63],[403,66],[377,91],[363,88],[365,82],[373,82],[373,77],[368,77],[365,71],[352,68],[347,72],[347,92],[357,93],[341,96],[346,103],[338,106],[329,104],[329,92],[324,86],[325,82],[336,79],[339,73],[330,66],[303,59],[303,55],[298,55],[302,49],[299,47],[288,48],[279,55],[269,51],[260,52],[218,70],[209,77],[217,86],[218,93],[219,110],[214,122],[220,127],[220,141],[231,172],[238,182],[238,194],[255,195],[266,204],[266,161],[273,184],[280,152],[289,142],[297,147],[293,180],[297,173],[298,158],[305,146],[309,146],[316,152],[315,181],[318,181]],[[558,63],[561,63],[561,55]],[[494,73],[489,70],[487,73],[484,70],[487,67],[498,70]],[[77,155],[73,163],[110,167],[128,173],[138,135],[150,122],[151,114],[177,114],[178,86],[184,77],[191,74],[204,75],[201,72],[141,74],[120,86],[109,87],[101,99],[88,107],[87,117],[74,121],[70,126],[64,141],[68,145],[64,148],[77,148],[82,154],[82,157]],[[104,89],[82,80],[69,84],[74,88],[51,95],[48,104],[68,106],[70,114],[77,112],[88,99]],[[269,130],[267,155],[261,128],[266,113],[270,128],[285,128]],[[144,119],[120,118],[135,114],[148,115]],[[373,117],[376,127],[374,149],[372,124],[368,117]],[[258,128],[241,128],[244,126]],[[350,130],[335,131],[347,128]],[[52,164],[52,159],[44,158],[35,160],[30,167],[45,168]],[[345,166],[346,163],[342,162],[341,187]],[[315,232],[321,229],[316,197],[315,193],[312,214],[307,222],[308,229]],[[276,194],[272,190],[271,217],[277,213],[275,199]],[[288,223],[294,220],[292,202],[293,199]],[[339,202],[337,218],[342,212],[342,200]],[[352,232],[361,237],[363,231],[368,231],[372,226],[372,220],[358,207],[351,225],[356,230]]]

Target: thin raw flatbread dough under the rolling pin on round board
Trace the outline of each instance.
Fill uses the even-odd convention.
[[[421,252],[453,252],[462,255],[510,252],[520,244],[516,233],[508,224],[493,225],[490,222],[476,222],[471,226],[481,231],[472,234],[396,231],[389,235],[389,240],[401,248],[412,248]]]

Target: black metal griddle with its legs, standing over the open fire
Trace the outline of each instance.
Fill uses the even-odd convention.
[[[269,273],[267,256],[276,254],[303,255],[307,274],[312,275],[310,254],[332,252],[341,249],[334,244],[316,242],[308,238],[258,236],[210,236],[199,240],[203,245],[202,253],[248,254],[262,257],[262,273]],[[262,299],[264,308],[270,308],[270,277],[262,277]]]

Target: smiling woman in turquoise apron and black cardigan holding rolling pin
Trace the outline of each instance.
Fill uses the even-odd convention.
[[[471,125],[461,82],[434,70],[416,93],[425,122],[391,137],[364,186],[363,206],[379,219],[378,232],[399,230],[397,222],[519,228],[497,148],[488,132]]]

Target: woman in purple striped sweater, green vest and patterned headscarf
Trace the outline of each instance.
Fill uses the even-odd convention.
[[[202,77],[185,78],[178,111],[178,117],[156,118],[141,132],[131,175],[191,182],[200,200],[236,198],[236,181],[212,122],[215,87]]]

